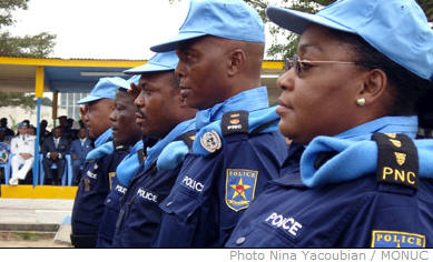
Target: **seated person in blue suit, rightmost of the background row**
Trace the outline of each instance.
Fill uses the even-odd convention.
[[[73,140],[69,153],[72,159],[72,183],[78,184],[81,179],[81,170],[83,168],[86,155],[94,149],[90,139],[87,138],[87,131],[81,128],[78,132],[78,139]]]

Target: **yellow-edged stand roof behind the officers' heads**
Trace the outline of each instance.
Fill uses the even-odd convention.
[[[37,67],[43,67],[45,92],[90,92],[101,77],[126,77],[121,72],[147,60],[87,60],[0,57],[0,91],[35,92]],[[275,97],[282,61],[264,61],[262,84]]]

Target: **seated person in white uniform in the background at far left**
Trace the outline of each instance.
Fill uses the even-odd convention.
[[[21,122],[18,125],[19,134],[11,141],[11,159],[12,178],[9,180],[11,185],[17,185],[18,180],[26,179],[27,173],[33,165],[35,160],[35,138],[27,134],[28,125]],[[22,168],[20,169],[20,167]]]

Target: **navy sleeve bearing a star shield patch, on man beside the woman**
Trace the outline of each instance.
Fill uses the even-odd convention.
[[[227,137],[224,150],[218,193],[222,235],[225,239],[266,183],[279,177],[279,167],[286,153],[283,138],[275,133],[249,139],[244,135]]]

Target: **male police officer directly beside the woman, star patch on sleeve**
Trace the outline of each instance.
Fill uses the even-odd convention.
[[[161,203],[155,246],[223,246],[269,179],[286,147],[260,87],[265,47],[259,16],[240,0],[190,2],[176,50],[180,94],[196,114],[196,139]]]

